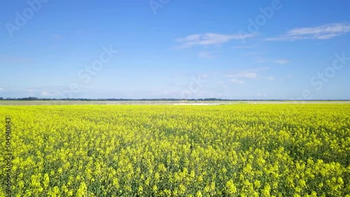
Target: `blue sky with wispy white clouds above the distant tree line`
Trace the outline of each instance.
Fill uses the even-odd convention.
[[[3,1],[0,96],[350,99],[350,1]]]

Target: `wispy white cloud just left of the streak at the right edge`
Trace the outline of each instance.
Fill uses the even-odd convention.
[[[221,45],[232,40],[251,38],[254,34],[193,34],[184,38],[177,38],[176,42],[181,43],[180,48],[191,48],[194,46]]]

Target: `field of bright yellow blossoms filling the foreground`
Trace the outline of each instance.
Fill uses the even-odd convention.
[[[12,196],[350,196],[350,105],[1,106]],[[0,196],[6,196],[0,158]]]

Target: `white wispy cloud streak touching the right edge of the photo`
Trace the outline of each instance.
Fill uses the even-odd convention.
[[[265,38],[266,41],[296,41],[303,39],[325,40],[350,32],[350,23],[324,24],[318,27],[291,29],[281,36]]]

